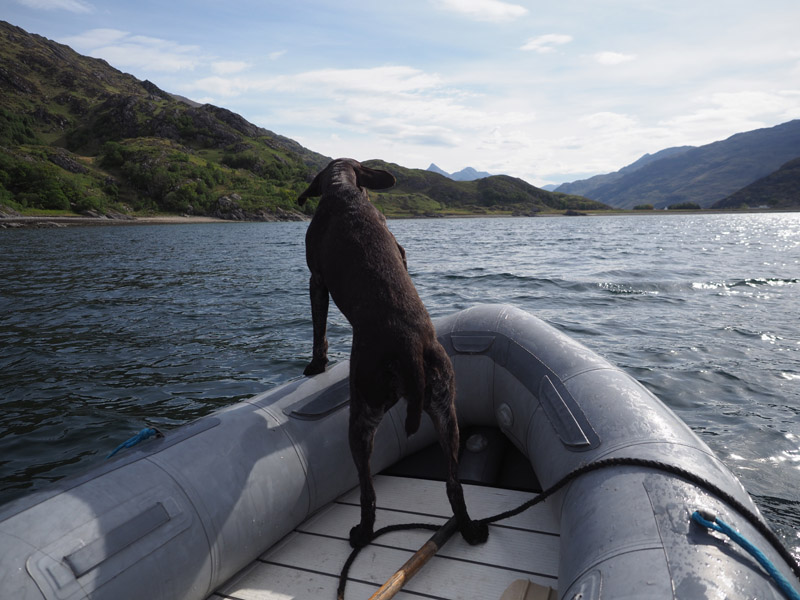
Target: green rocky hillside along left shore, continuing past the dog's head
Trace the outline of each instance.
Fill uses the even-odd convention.
[[[229,110],[169,94],[0,21],[0,206],[303,218],[295,199],[329,160]],[[531,214],[587,203],[511,178],[478,191],[474,182],[430,175],[447,183],[400,187],[382,195],[381,207],[395,215],[470,207]],[[305,211],[315,207],[308,202]]]

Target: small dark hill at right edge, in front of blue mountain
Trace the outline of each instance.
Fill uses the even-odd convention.
[[[800,158],[714,203],[711,208],[800,209]]]

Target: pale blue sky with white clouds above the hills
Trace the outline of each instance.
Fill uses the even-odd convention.
[[[0,0],[331,157],[557,184],[800,118],[798,0]]]

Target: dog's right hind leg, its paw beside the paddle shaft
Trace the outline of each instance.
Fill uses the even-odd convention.
[[[439,443],[447,460],[447,498],[463,538],[469,544],[482,544],[489,537],[489,526],[470,519],[464,501],[464,489],[458,480],[459,432],[453,403],[455,381],[452,367],[441,362],[436,365],[436,362],[439,362],[438,357],[434,360],[433,368],[429,363],[427,369],[429,379],[426,394],[429,395],[425,410],[439,434]]]

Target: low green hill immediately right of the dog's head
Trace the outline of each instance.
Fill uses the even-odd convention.
[[[393,188],[371,192],[375,205],[390,216],[443,213],[533,215],[539,212],[608,209],[600,202],[548,192],[507,175],[453,181],[430,169],[407,169],[381,160],[370,160],[364,164],[374,169],[386,169],[397,178]]]

